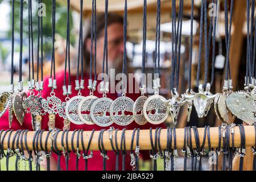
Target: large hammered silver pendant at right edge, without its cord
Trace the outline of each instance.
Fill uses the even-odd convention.
[[[226,98],[226,106],[242,121],[249,124],[256,123],[256,97],[253,92],[239,91],[230,94]]]

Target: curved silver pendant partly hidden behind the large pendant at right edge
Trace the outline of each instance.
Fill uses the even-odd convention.
[[[231,124],[234,122],[236,118],[231,111],[226,106],[226,98],[228,96],[226,94],[218,94],[218,96],[214,100],[214,110],[215,113],[222,122]]]

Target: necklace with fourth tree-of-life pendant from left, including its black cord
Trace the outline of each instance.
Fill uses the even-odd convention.
[[[126,97],[127,87],[127,55],[126,55],[126,38],[127,38],[127,0],[125,0],[125,14],[123,23],[123,73],[122,73],[122,97],[118,97],[110,106],[110,116],[114,123],[121,126],[129,125],[133,122],[134,101]]]

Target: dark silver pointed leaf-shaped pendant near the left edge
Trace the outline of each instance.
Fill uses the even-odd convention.
[[[26,114],[26,109],[24,109],[23,107],[23,101],[26,98],[27,98],[27,94],[23,92],[20,95],[14,96],[14,99],[13,99],[13,111],[20,125],[22,125],[25,114]]]

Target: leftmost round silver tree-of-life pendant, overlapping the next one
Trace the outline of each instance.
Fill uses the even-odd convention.
[[[76,125],[83,125],[84,122],[82,122],[82,120],[79,117],[78,114],[78,106],[79,103],[81,102],[81,100],[84,99],[84,96],[75,96],[72,97],[66,104],[65,107],[65,114],[67,119],[76,124]]]

